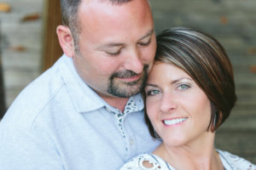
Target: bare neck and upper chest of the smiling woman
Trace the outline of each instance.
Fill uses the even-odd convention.
[[[177,170],[224,169],[214,149],[214,134],[206,140],[178,146],[160,144],[153,154],[160,156]]]

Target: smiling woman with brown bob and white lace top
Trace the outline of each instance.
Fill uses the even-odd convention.
[[[163,143],[122,170],[256,169],[214,148],[215,131],[236,103],[230,59],[215,38],[189,28],[161,32],[144,92],[149,132]]]

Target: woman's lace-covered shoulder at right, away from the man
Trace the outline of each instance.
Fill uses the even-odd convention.
[[[224,167],[237,170],[256,170],[256,165],[225,150],[217,150]],[[226,168],[229,169],[229,168]]]

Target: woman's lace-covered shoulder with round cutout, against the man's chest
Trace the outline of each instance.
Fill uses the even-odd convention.
[[[167,168],[163,168],[167,167]],[[126,162],[120,170],[160,170],[160,169],[170,169],[166,161],[162,160],[159,156],[155,156],[150,153],[141,154],[130,161]]]

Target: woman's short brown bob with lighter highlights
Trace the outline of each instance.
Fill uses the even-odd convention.
[[[233,69],[224,48],[214,37],[183,27],[161,31],[154,62],[176,65],[204,91],[212,106],[208,130],[214,132],[230,116],[236,103]],[[145,121],[151,135],[157,138],[146,109]]]

